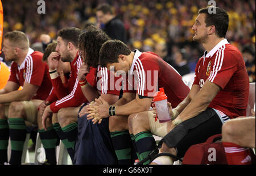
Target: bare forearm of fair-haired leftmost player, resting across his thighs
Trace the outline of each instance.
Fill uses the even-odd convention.
[[[28,101],[33,95],[25,93],[23,90],[15,90],[10,93],[0,95],[0,103],[10,103],[14,101]]]

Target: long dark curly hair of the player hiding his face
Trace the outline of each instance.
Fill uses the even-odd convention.
[[[79,36],[79,50],[84,52],[84,62],[97,68],[99,64],[101,45],[110,40],[106,33],[95,26],[89,26]]]

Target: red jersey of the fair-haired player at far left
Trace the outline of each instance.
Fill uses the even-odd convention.
[[[49,77],[48,65],[42,61],[43,53],[29,48],[22,64],[11,63],[11,74],[9,81],[23,86],[24,82],[39,86],[38,91],[32,99],[46,100],[51,89],[51,78]]]

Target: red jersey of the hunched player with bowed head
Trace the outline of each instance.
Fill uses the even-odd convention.
[[[135,75],[137,94],[153,97],[160,87],[168,97],[172,107],[176,107],[189,93],[180,74],[153,52],[135,50],[130,73]],[[129,81],[131,82],[131,81]]]

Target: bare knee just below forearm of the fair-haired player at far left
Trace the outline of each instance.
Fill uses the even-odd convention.
[[[8,114],[9,118],[23,118],[25,114],[23,104],[20,102],[11,102]]]

